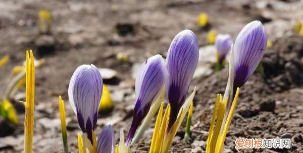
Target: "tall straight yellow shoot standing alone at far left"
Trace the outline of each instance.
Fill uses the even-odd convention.
[[[24,121],[24,152],[32,152],[35,100],[35,65],[33,52],[26,51],[26,102]]]

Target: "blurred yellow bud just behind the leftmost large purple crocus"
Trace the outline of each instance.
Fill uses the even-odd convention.
[[[106,85],[103,85],[102,97],[100,100],[99,111],[105,112],[114,107],[113,101],[111,98],[111,93]]]

